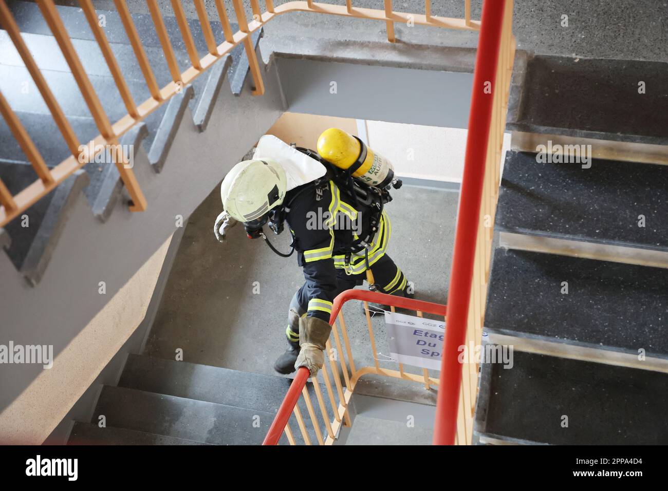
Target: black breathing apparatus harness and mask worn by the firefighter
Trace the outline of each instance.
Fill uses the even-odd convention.
[[[357,137],[355,137],[357,138]],[[359,138],[357,138],[359,140]],[[361,143],[361,140],[359,140]],[[296,150],[299,150],[299,152],[302,152],[303,154],[306,154],[307,156],[314,158],[325,168],[327,169],[327,172],[325,175],[319,179],[314,180],[313,182],[309,182],[308,184],[305,184],[302,186],[302,188],[297,192],[294,196],[290,198],[288,202],[283,202],[280,206],[277,206],[276,208],[273,208],[272,210],[269,210],[267,214],[261,216],[260,218],[257,218],[256,220],[252,220],[250,222],[244,222],[244,229],[246,230],[246,235],[248,235],[248,238],[259,238],[262,237],[265,239],[265,242],[267,242],[267,245],[269,246],[269,249],[271,249],[274,253],[281,257],[291,257],[293,253],[295,252],[295,236],[293,234],[293,231],[290,230],[290,235],[292,237],[292,242],[291,242],[291,251],[289,253],[281,253],[281,251],[278,251],[273,244],[269,241],[269,238],[267,235],[265,235],[265,232],[263,231],[263,226],[265,224],[269,224],[269,228],[271,229],[272,232],[275,234],[281,234],[283,232],[284,228],[284,222],[285,222],[285,217],[287,215],[287,212],[289,212],[291,208],[291,204],[297,199],[298,196],[301,196],[304,192],[313,190],[316,186],[321,184],[323,181],[327,180],[333,180],[339,188],[343,188],[347,190],[348,194],[351,196],[351,199],[353,201],[353,207],[356,209],[359,208],[360,205],[367,206],[369,210],[371,210],[371,215],[369,216],[369,228],[367,229],[368,232],[365,234],[363,237],[357,238],[351,245],[345,247],[343,249],[343,253],[345,254],[345,265],[349,264],[349,261],[351,259],[351,255],[353,253],[357,253],[361,251],[362,249],[365,249],[365,261],[367,262],[367,269],[369,267],[369,248],[371,247],[371,240],[373,240],[373,236],[375,236],[379,224],[380,224],[380,219],[383,214],[383,207],[385,206],[385,203],[389,203],[392,200],[392,196],[389,194],[389,188],[393,187],[395,189],[401,188],[401,180],[394,179],[383,187],[376,187],[376,186],[369,186],[368,184],[365,184],[364,182],[361,182],[360,180],[356,179],[353,177],[353,172],[355,172],[359,167],[363,164],[365,158],[367,157],[367,147],[362,144],[361,145],[361,152],[359,154],[359,157],[357,157],[357,161],[352,164],[349,168],[343,170],[341,168],[338,168],[337,166],[334,166],[333,164],[330,164],[322,158],[318,152],[314,152],[313,150],[310,150],[309,148],[303,148],[303,147],[298,147],[293,145]],[[347,274],[349,271],[346,270]]]

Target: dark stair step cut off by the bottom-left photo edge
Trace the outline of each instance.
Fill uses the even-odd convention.
[[[75,422],[67,445],[208,445],[173,436],[114,428],[100,428],[97,424]]]

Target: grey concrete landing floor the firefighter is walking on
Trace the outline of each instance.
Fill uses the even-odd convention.
[[[389,255],[415,283],[416,297],[445,303],[459,194],[403,186],[387,205],[392,220]],[[218,186],[190,216],[144,354],[243,371],[275,374],[286,345],[287,310],[303,275],[295,257],[275,255],[263,240],[246,238],[240,224],[219,244],[213,222],[221,210]],[[289,234],[272,237],[289,251]],[[259,293],[253,293],[254,284]],[[344,309],[357,367],[373,365],[359,303]],[[383,317],[373,319],[382,367],[387,339]],[[407,369],[407,371],[411,371]],[[413,369],[420,373],[420,369]]]

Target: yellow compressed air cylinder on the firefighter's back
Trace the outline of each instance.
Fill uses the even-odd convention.
[[[338,168],[348,170],[356,167],[353,177],[369,186],[384,188],[394,179],[394,169],[389,160],[339,128],[329,128],[320,135],[318,154]]]

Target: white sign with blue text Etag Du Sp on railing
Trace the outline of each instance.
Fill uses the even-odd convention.
[[[446,323],[385,312],[385,327],[393,359],[414,367],[441,369]]]

